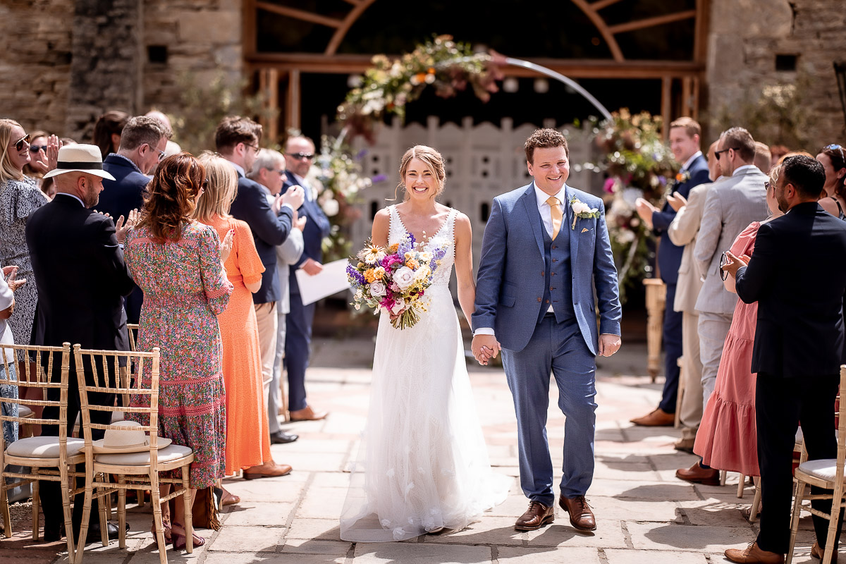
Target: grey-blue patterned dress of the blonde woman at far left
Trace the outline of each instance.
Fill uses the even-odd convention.
[[[25,176],[23,180],[0,183],[0,264],[17,266],[18,280],[26,278],[26,283],[14,293],[14,313],[8,319],[18,344],[30,343],[38,303],[36,277],[26,246],[26,218],[47,201],[35,178]]]

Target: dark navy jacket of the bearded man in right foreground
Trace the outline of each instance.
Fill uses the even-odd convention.
[[[838,375],[846,222],[816,202],[794,205],[758,228],[749,266],[738,269],[735,288],[745,304],[758,302],[752,372]]]

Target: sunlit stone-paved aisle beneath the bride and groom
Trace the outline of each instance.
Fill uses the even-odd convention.
[[[606,360],[599,371],[596,477],[588,494],[596,512],[596,534],[577,533],[558,507],[551,526],[529,533],[514,531],[514,519],[526,507],[515,478],[508,500],[464,531],[402,543],[343,542],[338,539],[338,515],[349,477],[344,468],[355,455],[365,423],[371,358],[369,341],[316,342],[315,366],[308,375],[310,401],[332,414],[325,421],[288,425],[288,430],[299,433],[299,441],[273,446],[277,462],[291,464],[294,472],[279,479],[227,480],[228,489],[241,496],[239,506],[223,513],[220,531],[201,531],[209,537],[206,546],[193,555],[168,552],[170,562],[705,564],[726,561],[722,550],[744,547],[755,538],[755,525],[740,512],[751,503],[751,487],[739,500],[736,474],[729,476],[725,487],[675,479],[676,468],[695,460],[673,450],[678,432],[629,424],[631,417],[657,404],[660,389],[648,377],[635,375],[644,370],[645,347],[624,344],[623,352]],[[471,381],[492,464],[516,477],[516,424],[503,371],[475,367]],[[548,430],[560,468],[563,415],[556,400],[553,396]],[[85,562],[157,563],[149,505],[134,510],[131,523],[127,545],[135,552],[119,550],[116,542],[107,548],[90,545]],[[25,523],[23,531],[28,526]],[[799,563],[812,561],[809,519],[804,519],[803,527],[795,560]],[[57,556],[61,545],[33,544],[21,528],[14,539],[0,539],[0,562],[67,561],[66,554]]]

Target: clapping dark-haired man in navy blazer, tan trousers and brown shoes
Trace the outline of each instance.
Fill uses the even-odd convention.
[[[250,226],[255,249],[265,267],[261,275],[261,287],[253,293],[253,308],[261,349],[262,395],[267,397],[273,380],[273,359],[276,356],[277,303],[282,298],[276,271],[276,245],[283,244],[288,238],[294,211],[302,205],[304,196],[299,187],[289,189],[285,194],[278,194],[270,204],[266,199],[266,189],[246,177],[246,172],[251,171],[255,163],[260,139],[261,125],[239,116],[223,118],[215,132],[217,151],[239,177],[238,192],[230,213]],[[257,466],[244,470],[244,477],[254,479],[280,476],[288,471],[290,468],[286,466]]]

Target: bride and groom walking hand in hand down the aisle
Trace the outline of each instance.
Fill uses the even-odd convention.
[[[554,519],[546,432],[551,373],[566,416],[559,505],[574,528],[596,528],[585,501],[594,470],[595,360],[620,347],[617,271],[602,200],[566,184],[563,134],[536,130],[525,154],[534,181],[493,200],[475,283],[470,219],[436,201],[446,178],[442,156],[424,145],[403,156],[404,201],[376,214],[372,243],[387,247],[410,233],[420,246],[447,253],[415,326],[395,329],[381,316],[342,539],[461,529],[508,495],[511,479],[492,471],[475,413],[448,287],[453,266],[475,359],[487,364],[502,353],[514,397],[520,486],[529,499],[514,528],[534,530]]]

